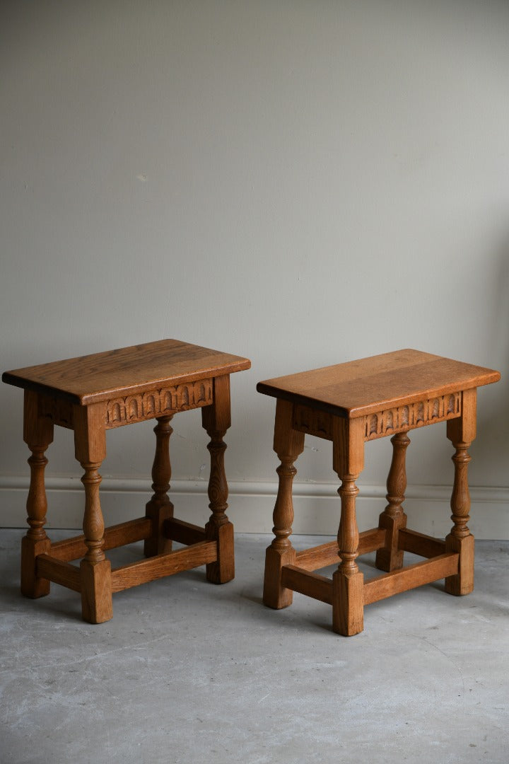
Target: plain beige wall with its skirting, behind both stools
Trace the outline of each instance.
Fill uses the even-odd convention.
[[[247,355],[232,517],[269,530],[274,403],[257,380],[404,347],[496,367],[470,475],[478,533],[509,538],[507,3],[4,2],[0,36],[3,369],[163,337]],[[21,393],[0,396],[9,524],[27,453]],[[205,434],[194,413],[174,422],[192,503]],[[146,487],[152,448],[150,425],[110,433],[111,512],[123,478]],[[366,453],[376,516],[388,443]],[[437,426],[408,458],[446,525],[450,454]],[[69,432],[48,456],[50,520],[79,522]],[[323,506],[333,533],[330,448],[310,439],[297,466],[303,529]]]

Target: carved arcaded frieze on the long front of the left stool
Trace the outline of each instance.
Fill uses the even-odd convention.
[[[112,428],[143,422],[143,419],[209,406],[213,401],[211,379],[186,382],[176,387],[163,387],[161,390],[148,390],[140,395],[108,400],[106,426]]]

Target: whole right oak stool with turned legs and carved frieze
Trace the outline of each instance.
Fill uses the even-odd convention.
[[[469,520],[467,452],[475,438],[476,388],[497,382],[498,371],[440,358],[416,350],[376,355],[260,382],[260,393],[277,398],[274,450],[281,461],[274,507],[275,539],[266,552],[263,602],[281,608],[292,604],[293,591],[332,605],[333,630],[345,636],[363,629],[363,608],[437,579],[449,594],[468,594],[474,584],[474,538]],[[406,488],[408,431],[447,422],[456,453],[451,499],[453,529],[445,541],[407,529],[401,507]],[[333,468],[341,487],[337,542],[295,552],[292,533],[292,481],[304,434],[333,443]],[[393,456],[387,481],[388,506],[379,527],[359,533],[356,480],[364,466],[364,443],[392,435]],[[376,551],[385,575],[364,583],[356,558]],[[427,558],[403,568],[403,553]],[[337,561],[332,580],[313,571]]]

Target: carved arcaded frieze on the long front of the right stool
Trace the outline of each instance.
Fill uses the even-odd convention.
[[[429,400],[418,400],[408,406],[379,411],[366,416],[365,440],[383,438],[394,432],[414,429],[433,422],[456,419],[461,414],[461,393],[450,393]]]

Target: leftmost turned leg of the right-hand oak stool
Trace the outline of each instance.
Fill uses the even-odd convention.
[[[293,591],[281,584],[284,565],[295,563],[295,549],[290,541],[293,523],[292,484],[297,470],[295,459],[304,450],[304,433],[292,429],[292,403],[277,400],[275,408],[274,451],[281,464],[277,468],[279,476],[278,494],[274,506],[275,538],[266,550],[265,578],[263,582],[263,603],[276,609],[292,604]]]

